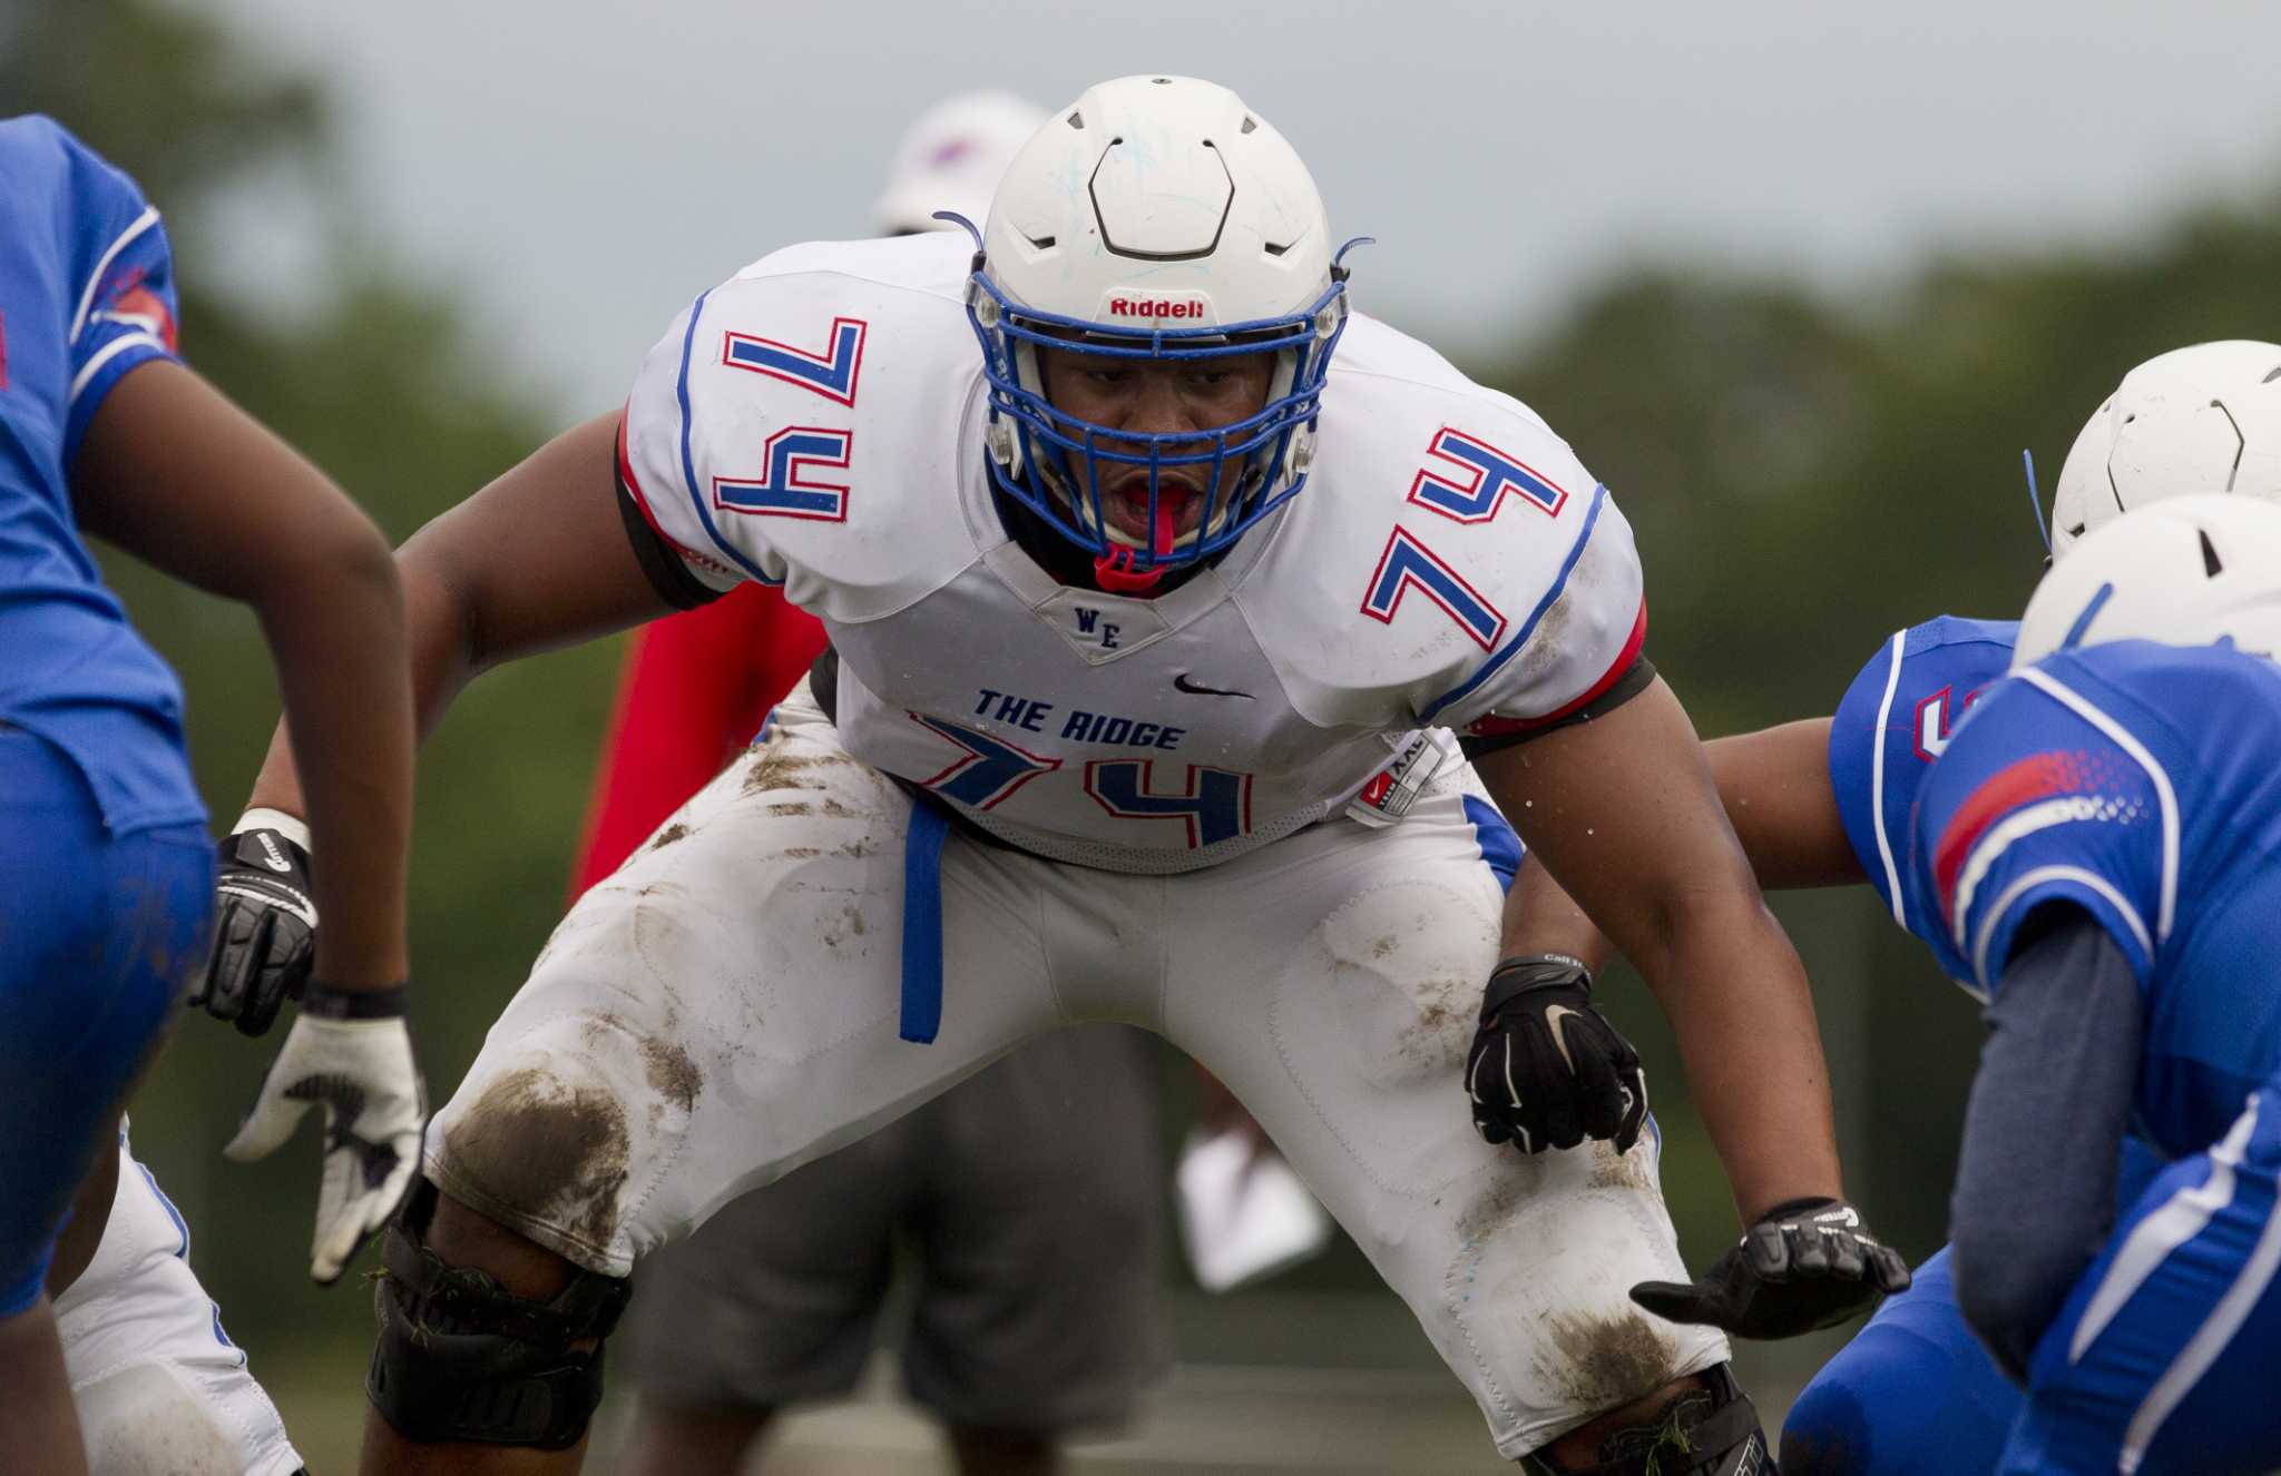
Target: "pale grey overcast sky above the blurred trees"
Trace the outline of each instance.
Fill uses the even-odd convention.
[[[331,84],[365,249],[463,290],[566,415],[741,262],[860,235],[903,123],[967,87],[1234,87],[1334,233],[1380,240],[1357,301],[1455,356],[1638,258],[1850,297],[1932,249],[2142,242],[2281,183],[2258,0],[180,2]],[[312,235],[265,210],[246,283]]]

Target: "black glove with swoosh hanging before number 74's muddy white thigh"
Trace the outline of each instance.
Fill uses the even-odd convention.
[[[1489,974],[1464,1090],[1480,1136],[1521,1152],[1585,1138],[1626,1152],[1647,1122],[1640,1052],[1592,1008],[1592,972],[1562,954],[1508,958]]]

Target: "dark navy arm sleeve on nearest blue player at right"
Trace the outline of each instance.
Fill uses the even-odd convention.
[[[1950,1205],[1957,1303],[2014,1380],[2112,1225],[2142,1033],[2099,922],[2046,903],[2030,933],[1987,1015]]]

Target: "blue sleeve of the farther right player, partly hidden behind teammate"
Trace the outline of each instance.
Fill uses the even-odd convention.
[[[1861,871],[1909,933],[1937,919],[1909,876],[1909,812],[1932,760],[1980,691],[2012,664],[2019,621],[1937,616],[1898,630],[1829,721],[1829,789]]]

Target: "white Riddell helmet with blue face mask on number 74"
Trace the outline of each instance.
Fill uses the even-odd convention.
[[[1211,82],[1122,78],[1056,112],[1015,155],[967,315],[990,379],[997,486],[1093,552],[1104,582],[1147,589],[1300,490],[1346,326],[1346,271],[1314,178],[1266,119]],[[1056,342],[1134,360],[1273,351],[1275,372],[1248,420],[1134,436],[1045,399],[1038,344]],[[1209,486],[1202,520],[1175,536],[1156,495],[1177,465],[1202,468]],[[1147,470],[1147,538],[1102,516],[1102,472],[1118,468]]]

